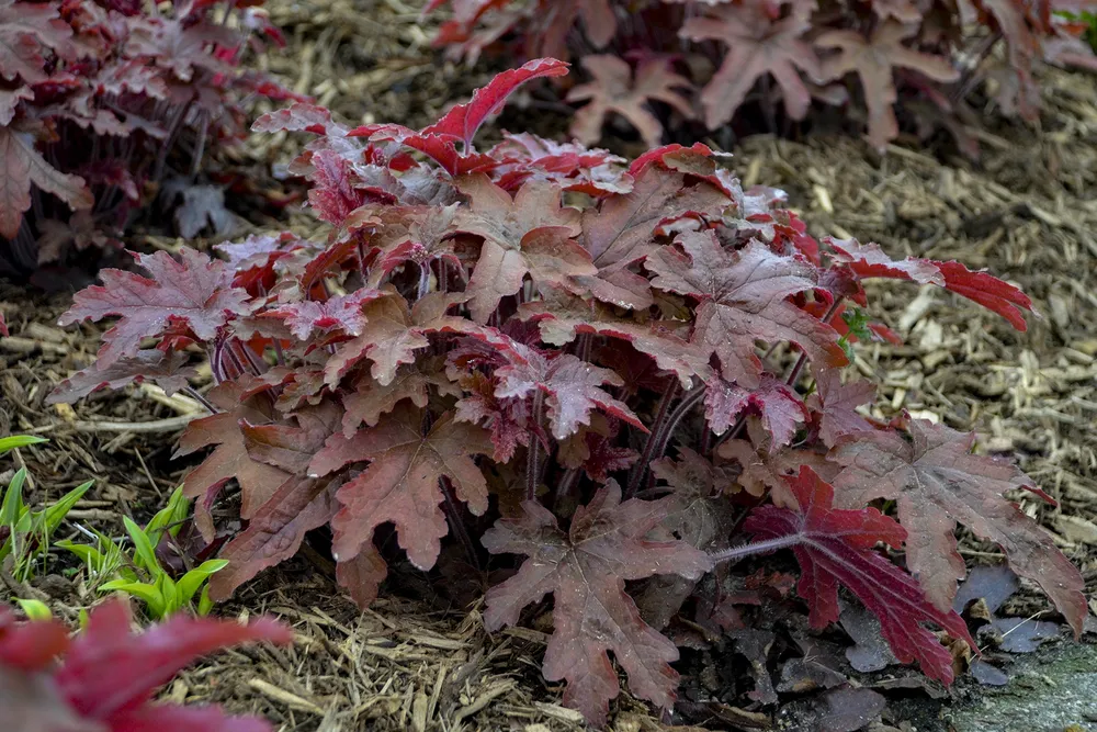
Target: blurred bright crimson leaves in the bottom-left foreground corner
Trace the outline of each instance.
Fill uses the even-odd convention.
[[[241,626],[178,616],[143,633],[131,629],[128,606],[93,609],[75,637],[56,620],[18,622],[0,607],[0,703],[4,729],[41,732],[270,732],[251,717],[217,707],[152,701],[154,692],[200,656],[250,641],[290,643],[272,620]]]

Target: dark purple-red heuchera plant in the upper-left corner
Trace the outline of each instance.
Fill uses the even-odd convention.
[[[246,132],[245,94],[287,98],[238,68],[248,45],[281,42],[257,3],[242,4],[0,0],[9,269],[112,244],[178,149],[196,169],[204,150]]]

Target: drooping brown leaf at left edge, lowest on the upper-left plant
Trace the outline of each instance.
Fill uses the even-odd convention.
[[[53,193],[73,211],[91,209],[94,203],[84,180],[46,162],[34,149],[30,133],[0,126],[0,167],[4,171],[0,178],[0,237],[5,239],[19,235],[23,212],[31,207],[32,184]]]

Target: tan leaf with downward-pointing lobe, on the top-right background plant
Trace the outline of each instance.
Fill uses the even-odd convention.
[[[858,31],[827,31],[815,40],[821,48],[837,48],[838,54],[823,63],[827,79],[840,79],[856,72],[869,108],[869,143],[883,149],[898,135],[892,106],[898,99],[895,69],[912,69],[936,81],[955,81],[960,72],[942,56],[915,50],[903,41],[917,33],[917,25],[886,21],[869,38]]]

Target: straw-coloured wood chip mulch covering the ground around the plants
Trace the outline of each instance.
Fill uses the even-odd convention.
[[[350,122],[422,125],[489,74],[490,63],[473,71],[442,63],[429,47],[431,29],[419,24],[417,2],[272,0],[268,8],[290,47],[264,65]],[[732,167],[747,184],[784,189],[814,235],[877,241],[894,257],[959,259],[1020,284],[1033,297],[1040,316],[1029,318],[1029,329],[1019,334],[961,299],[878,288],[872,314],[900,331],[905,345],[859,347],[856,368],[881,384],[880,417],[907,409],[979,430],[983,451],[1016,455],[1059,502],[1052,508],[1019,497],[1024,510],[1055,536],[1093,596],[1097,78],[1051,70],[1042,88],[1039,124],[995,123],[992,116],[988,129],[970,131],[981,143],[979,161],[954,154],[947,143],[926,148],[900,140],[880,156],[849,136],[755,136],[734,150]],[[301,144],[274,135],[249,143],[248,155],[270,169]],[[271,223],[257,218],[251,225]],[[278,225],[319,230],[296,210]],[[134,243],[179,244],[156,237]],[[149,516],[178,485],[189,465],[171,460],[172,444],[201,408],[147,386],[94,395],[73,407],[46,406],[52,386],[87,365],[98,348],[97,328],[56,327],[67,301],[0,286],[0,312],[12,330],[11,338],[0,339],[0,435],[31,432],[50,440],[14,453],[16,465],[25,464],[37,480],[29,491],[32,502],[56,499],[94,478],[70,516],[117,536],[123,515]],[[0,475],[0,483],[7,476]],[[961,551],[972,564],[1003,561],[996,547],[970,536]],[[75,619],[94,598],[79,575],[61,572],[65,561],[39,571],[31,587],[4,576],[0,598],[41,597]],[[425,578],[411,575],[406,582],[409,586],[392,588],[363,613],[339,595],[330,563],[319,552],[305,552],[219,609],[282,617],[294,626],[298,643],[222,654],[185,672],[166,696],[260,713],[285,732],[584,729],[576,712],[559,706],[558,686],[541,677],[542,630],[487,635],[476,605],[449,607],[431,596]],[[1037,617],[1047,610],[1043,597],[1022,584],[999,615]],[[873,724],[960,732],[1097,729],[1092,716],[1097,654],[1085,644],[1093,639],[1021,660],[1004,691],[991,694],[965,680],[952,698],[889,692],[883,721]],[[714,721],[705,729],[810,729],[750,703],[744,699],[743,709],[728,707],[733,711],[716,717],[737,721]],[[625,694],[614,702],[611,727],[697,729],[666,728]]]

